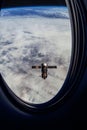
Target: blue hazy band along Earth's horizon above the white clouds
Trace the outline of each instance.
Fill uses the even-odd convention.
[[[66,6],[29,6],[1,9],[1,16],[40,16],[69,19]]]

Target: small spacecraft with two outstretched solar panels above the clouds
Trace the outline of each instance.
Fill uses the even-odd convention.
[[[32,69],[41,69],[42,78],[46,79],[48,76],[48,68],[49,69],[56,69],[57,66],[48,66],[47,63],[42,63],[41,66],[32,66]]]

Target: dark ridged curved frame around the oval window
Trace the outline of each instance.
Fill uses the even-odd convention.
[[[80,0],[65,0],[71,22],[72,30],[72,56],[69,71],[63,87],[59,93],[50,101],[42,104],[27,103],[16,96],[8,87],[0,74],[0,86],[8,100],[19,110],[27,113],[46,113],[59,108],[79,86],[86,62],[86,20],[84,8]]]

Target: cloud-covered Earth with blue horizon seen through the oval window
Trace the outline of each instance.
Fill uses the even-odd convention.
[[[37,6],[0,12],[0,73],[22,100],[40,104],[62,88],[71,59],[71,26],[67,7]],[[33,65],[55,65],[41,77]]]

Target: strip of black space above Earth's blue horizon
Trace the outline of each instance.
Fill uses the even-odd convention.
[[[33,5],[65,5],[65,0],[0,0],[1,7],[33,6]]]

